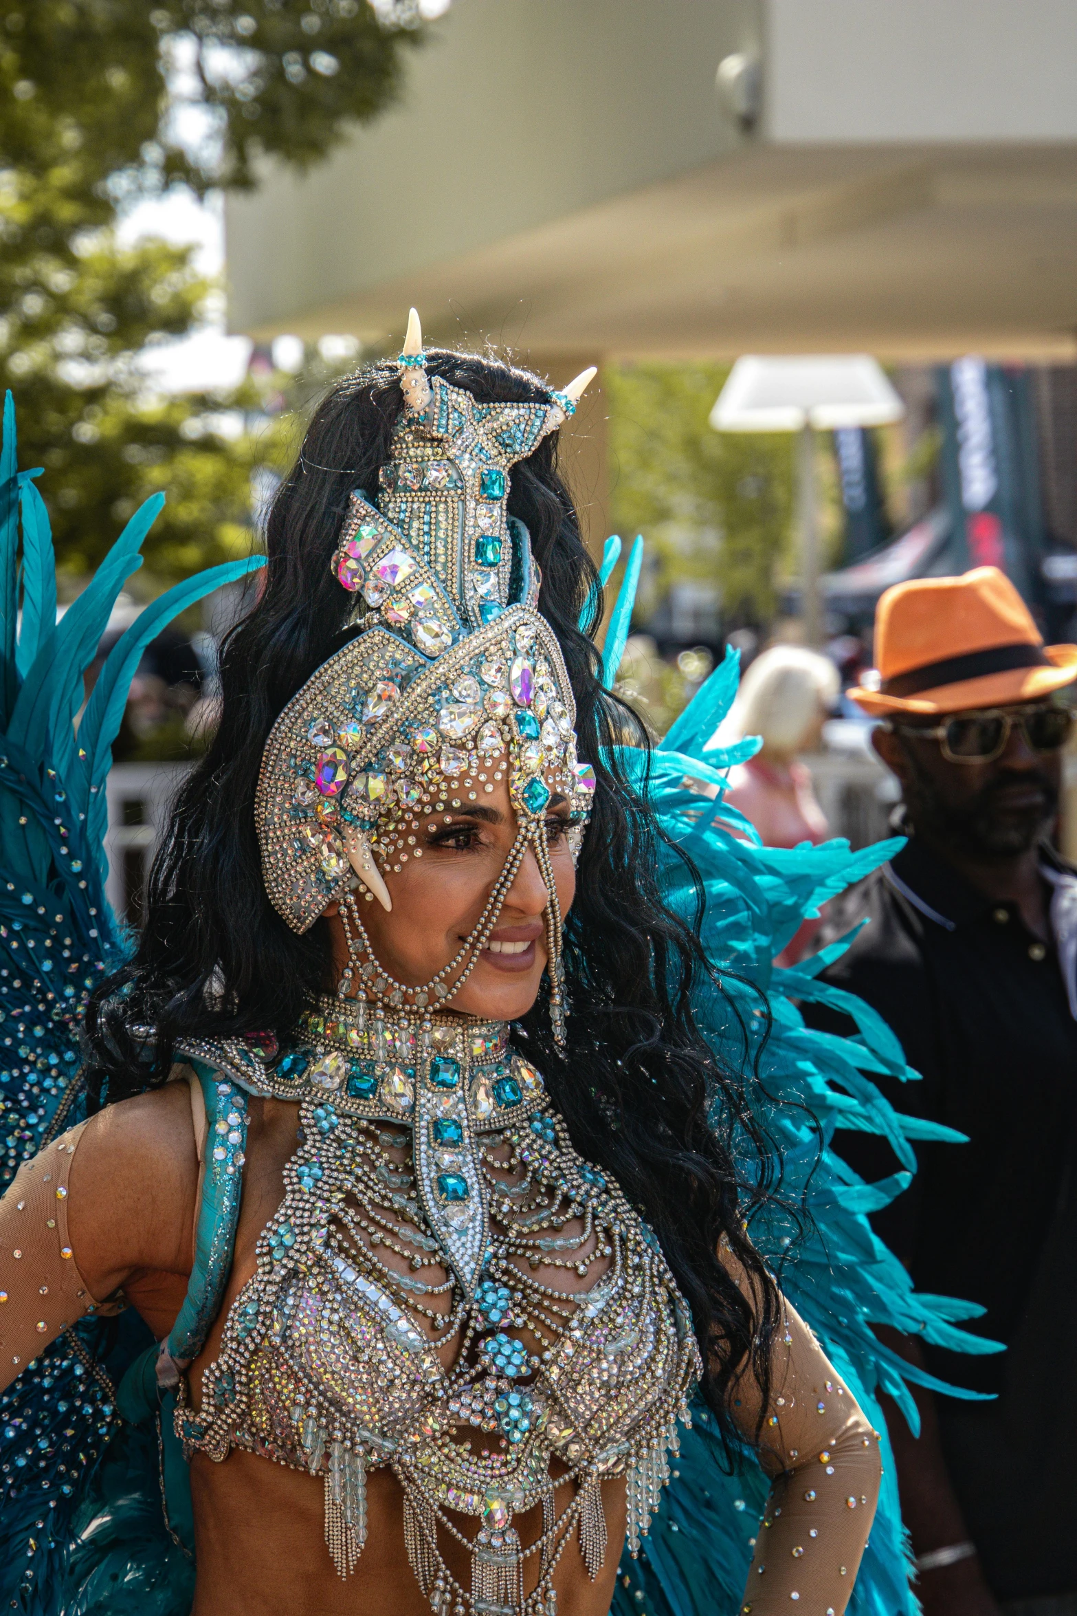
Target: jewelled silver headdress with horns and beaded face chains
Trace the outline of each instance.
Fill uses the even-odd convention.
[[[546,882],[554,1033],[564,1036],[562,916],[546,823],[568,802],[573,858],[594,793],[576,756],[575,703],[557,638],[536,611],[530,537],[509,516],[509,472],[575,410],[594,372],[549,404],[480,404],[423,368],[412,310],[399,359],[405,412],[376,503],[349,507],[333,570],[355,638],[307,680],[265,747],[255,819],[266,890],[299,932],[341,902],[358,989],[397,1012],[446,1005],[475,968],[533,850]],[[507,782],[517,837],[475,931],[430,983],[397,983],[367,936],[363,902],[389,910],[384,871],[421,856],[431,814],[460,813]]]

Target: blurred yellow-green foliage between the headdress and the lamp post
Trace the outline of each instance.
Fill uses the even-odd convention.
[[[680,579],[717,583],[727,621],[767,622],[793,509],[791,440],[714,431],[725,365],[612,365],[612,517],[643,533],[646,614]]]

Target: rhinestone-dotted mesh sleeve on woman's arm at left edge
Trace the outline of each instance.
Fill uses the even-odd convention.
[[[79,1123],[23,1162],[0,1199],[0,1390],[94,1306],[68,1239]]]

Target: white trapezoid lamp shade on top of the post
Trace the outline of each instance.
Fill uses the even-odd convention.
[[[904,404],[870,354],[746,354],[710,410],[715,431],[885,427]]]

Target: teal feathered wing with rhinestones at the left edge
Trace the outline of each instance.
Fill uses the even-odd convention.
[[[105,897],[105,782],[131,679],[149,642],[262,558],[168,590],[95,656],[163,496],[149,499],[57,622],[57,572],[39,472],[16,465],[6,398],[0,451],[0,1189],[84,1115],[79,1026],[90,991],[131,947]],[[0,1396],[0,1606],[165,1611],[189,1582],[165,1532],[157,1441],[121,1425],[113,1387],[149,1332],[132,1314],[65,1332]],[[161,1603],[165,1600],[165,1603]]]

